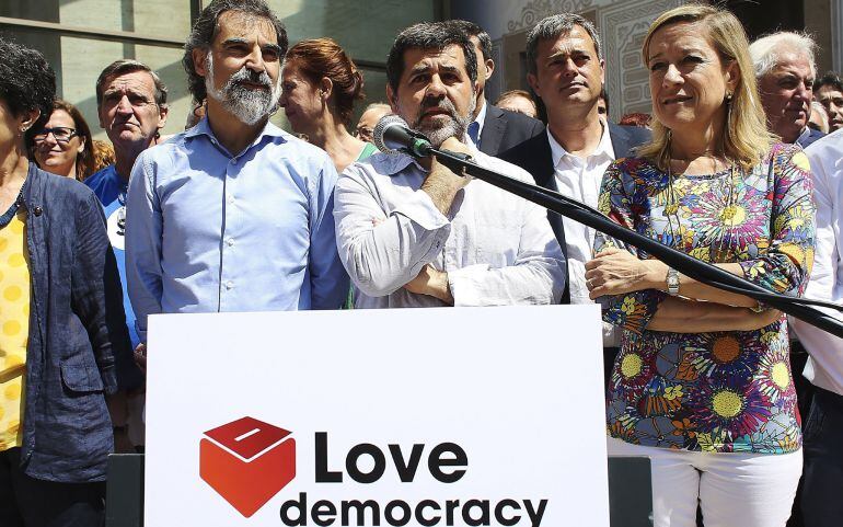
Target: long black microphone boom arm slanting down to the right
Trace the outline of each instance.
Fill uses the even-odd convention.
[[[462,153],[439,150],[436,148],[431,149],[430,153],[436,156],[437,161],[448,167],[454,173],[459,174],[464,171],[464,173],[473,177],[483,180],[486,183],[523,197],[536,205],[541,205],[566,218],[570,218],[585,226],[591,227],[592,229],[597,229],[624,243],[644,249],[647,253],[654,255],[685,276],[690,276],[719,289],[744,295],[843,339],[843,322],[819,309],[810,307],[810,305],[827,306],[838,310],[843,310],[843,306],[818,302],[771,291],[746,278],[734,275],[728,271],[724,271],[715,265],[697,260],[689,254],[677,251],[671,247],[639,234],[634,230],[617,225],[600,214],[600,211],[577,201],[565,197],[557,192],[538,185],[531,185],[530,183],[524,183],[485,169],[471,161],[470,158]]]

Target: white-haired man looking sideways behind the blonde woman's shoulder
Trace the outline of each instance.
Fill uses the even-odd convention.
[[[817,44],[808,35],[773,33],[749,47],[770,131],[805,148],[823,134],[808,126],[817,78]]]

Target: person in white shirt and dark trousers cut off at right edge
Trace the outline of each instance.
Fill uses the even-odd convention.
[[[843,302],[843,130],[805,151],[811,162],[817,203],[817,247],[807,298]],[[840,318],[839,311],[829,313]],[[838,526],[843,518],[843,340],[790,318],[810,354],[802,375],[815,394],[802,426],[805,466],[801,509],[806,527]]]

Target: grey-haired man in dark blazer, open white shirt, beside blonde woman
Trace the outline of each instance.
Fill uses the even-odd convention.
[[[582,16],[564,13],[540,21],[527,38],[527,80],[547,110],[547,131],[499,157],[530,172],[536,184],[597,208],[605,169],[616,158],[633,156],[635,147],[649,140],[649,131],[601,119],[605,62],[597,31]],[[563,302],[592,303],[585,264],[592,257],[594,230],[556,213],[547,217],[568,259]],[[607,377],[617,336],[604,324]]]

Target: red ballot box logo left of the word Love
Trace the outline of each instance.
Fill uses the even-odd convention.
[[[250,517],[296,477],[290,434],[253,417],[209,429],[199,442],[199,477]]]

